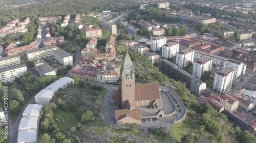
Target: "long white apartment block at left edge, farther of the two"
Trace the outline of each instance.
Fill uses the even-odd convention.
[[[20,58],[17,54],[0,58],[0,69],[20,65]]]

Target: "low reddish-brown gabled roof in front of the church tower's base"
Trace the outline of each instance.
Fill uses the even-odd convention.
[[[135,120],[141,120],[141,113],[140,109],[123,109],[123,110],[115,110],[115,115],[116,115],[116,121],[119,121],[127,116],[130,116],[134,118]]]

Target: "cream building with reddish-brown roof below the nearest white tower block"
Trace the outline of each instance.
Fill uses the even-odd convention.
[[[220,96],[220,104],[225,106],[225,110],[235,112],[238,109],[239,101],[228,94]]]

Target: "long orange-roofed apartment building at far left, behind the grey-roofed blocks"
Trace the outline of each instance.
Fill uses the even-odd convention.
[[[31,42],[27,46],[22,46],[22,47],[9,49],[9,50],[6,51],[6,53],[7,53],[8,56],[17,54],[17,55],[20,56],[20,58],[23,58],[24,56],[26,56],[26,51],[36,49],[36,48],[37,48],[37,43],[36,42]]]

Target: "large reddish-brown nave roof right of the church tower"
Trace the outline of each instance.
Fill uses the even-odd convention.
[[[160,99],[158,83],[135,84],[135,101]]]

